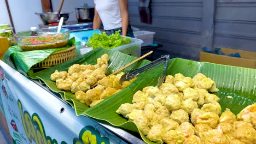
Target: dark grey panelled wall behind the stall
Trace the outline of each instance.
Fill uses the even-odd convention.
[[[203,46],[256,52],[256,0],[151,0],[151,24],[141,22],[138,1],[129,1],[130,22],[156,33],[156,57],[198,61]]]

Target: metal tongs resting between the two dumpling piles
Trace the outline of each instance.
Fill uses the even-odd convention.
[[[131,70],[131,71],[125,73],[124,75],[121,76],[119,82],[123,83],[124,81],[129,81],[129,80],[133,79],[134,77],[136,77],[139,73],[142,73],[143,71],[145,71],[149,68],[152,68],[155,65],[165,61],[164,71],[162,72],[162,75],[159,77],[159,80],[158,80],[158,87],[160,87],[162,85],[162,82],[164,82],[165,77],[166,77],[166,68],[168,66],[168,60],[169,60],[169,55],[161,56],[160,58],[156,59],[155,61],[153,61],[149,64],[144,65],[141,68]]]

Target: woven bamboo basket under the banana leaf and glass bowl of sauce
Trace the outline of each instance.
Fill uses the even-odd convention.
[[[66,50],[51,53],[51,55],[46,59],[44,59],[44,61],[34,64],[32,66],[32,69],[53,67],[54,65],[67,62],[75,57],[77,57],[77,51],[75,50],[75,45],[74,45],[72,47],[69,47]]]

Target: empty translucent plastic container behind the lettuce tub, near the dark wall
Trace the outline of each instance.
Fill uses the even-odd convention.
[[[141,39],[144,41],[144,43],[141,46],[147,46],[147,45],[153,44],[155,32],[137,31],[137,32],[133,32],[133,34],[136,39]]]

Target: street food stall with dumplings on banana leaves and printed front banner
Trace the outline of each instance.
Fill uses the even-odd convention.
[[[146,59],[162,46],[154,32],[107,35],[62,17],[0,38],[10,143],[256,143],[256,69]]]

